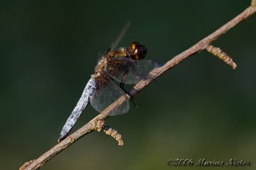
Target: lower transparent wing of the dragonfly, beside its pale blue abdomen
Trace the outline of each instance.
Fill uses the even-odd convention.
[[[107,80],[107,81],[106,81]],[[120,96],[123,96],[125,92],[120,89],[111,78],[104,78],[99,80],[99,87],[95,90],[93,96],[90,98],[90,102],[95,110],[102,112],[110,104],[112,104]],[[122,105],[118,106],[114,111],[109,113],[109,116],[120,115],[126,113],[129,110],[129,101],[126,100]]]

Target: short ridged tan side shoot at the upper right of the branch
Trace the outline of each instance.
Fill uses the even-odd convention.
[[[212,53],[219,59],[223,60],[226,64],[231,66],[233,69],[236,69],[236,63],[232,60],[231,57],[227,55],[227,53],[223,52],[220,48],[217,48],[212,45],[208,45],[206,50],[207,52]]]

